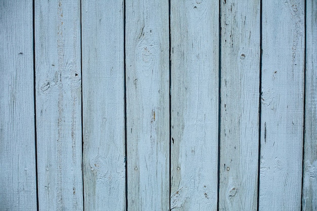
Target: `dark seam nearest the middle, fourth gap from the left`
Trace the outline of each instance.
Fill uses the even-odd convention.
[[[169,154],[169,165],[170,165],[170,182],[169,182],[169,186],[170,186],[170,190],[169,190],[169,210],[171,210],[171,189],[172,189],[172,174],[171,174],[171,170],[172,170],[172,159],[171,159],[171,152],[172,152],[172,115],[171,115],[171,111],[172,111],[172,96],[171,96],[171,88],[172,88],[172,77],[171,77],[171,70],[172,70],[172,57],[171,57],[171,0],[169,0],[169,80],[170,80],[170,93],[169,93],[169,97],[170,97],[170,107],[169,107],[169,112],[170,112],[170,154]]]

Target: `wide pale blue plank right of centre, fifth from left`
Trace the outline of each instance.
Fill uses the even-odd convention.
[[[216,210],[219,2],[171,1],[171,209]]]

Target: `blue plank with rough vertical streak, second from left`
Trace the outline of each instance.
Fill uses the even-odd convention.
[[[83,210],[79,1],[35,1],[38,202]]]

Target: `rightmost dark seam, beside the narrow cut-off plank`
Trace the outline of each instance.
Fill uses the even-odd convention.
[[[307,1],[305,1],[305,6],[304,6],[304,108],[303,108],[303,151],[302,151],[302,188],[301,188],[301,203],[300,203],[300,210],[303,210],[303,203],[304,203],[304,198],[303,198],[303,188],[304,188],[304,167],[305,167],[305,115],[306,115],[306,54],[307,54]]]

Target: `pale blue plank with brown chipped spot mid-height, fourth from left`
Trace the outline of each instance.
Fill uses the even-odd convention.
[[[128,209],[169,209],[169,2],[126,1]]]

